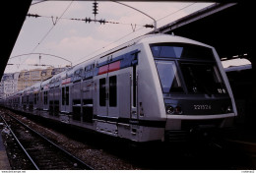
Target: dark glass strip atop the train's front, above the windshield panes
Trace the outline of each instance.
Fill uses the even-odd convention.
[[[151,50],[154,58],[181,58],[214,60],[211,48],[185,43],[159,43],[152,44]]]

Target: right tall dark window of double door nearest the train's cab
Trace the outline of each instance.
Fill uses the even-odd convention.
[[[117,87],[116,76],[109,77],[109,106],[116,107],[117,103]]]

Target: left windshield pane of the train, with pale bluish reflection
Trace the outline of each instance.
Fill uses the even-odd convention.
[[[174,61],[156,61],[162,92],[183,92]]]

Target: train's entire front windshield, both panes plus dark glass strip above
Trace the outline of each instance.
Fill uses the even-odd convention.
[[[151,49],[163,93],[226,93],[212,49],[181,43],[153,44]]]

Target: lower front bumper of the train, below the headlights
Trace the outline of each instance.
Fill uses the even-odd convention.
[[[233,129],[233,113],[222,115],[167,115],[164,141],[185,142],[222,136]]]

